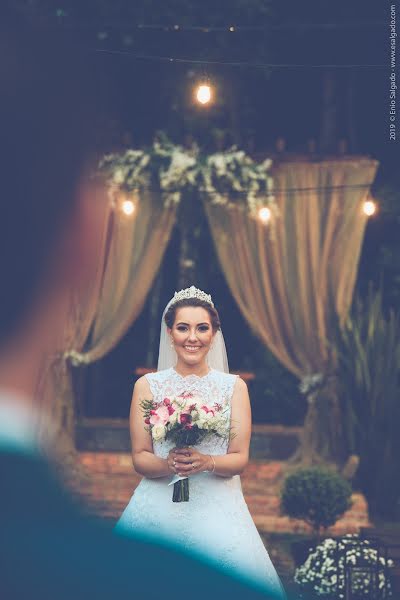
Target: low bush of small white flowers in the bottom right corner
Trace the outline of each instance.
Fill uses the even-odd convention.
[[[387,567],[393,566],[393,561],[389,559],[386,563],[383,557],[378,557],[377,550],[371,547],[368,540],[360,539],[356,534],[345,535],[339,541],[325,539],[296,569],[294,580],[318,596],[336,594],[335,597],[344,598],[345,567],[349,566],[355,567],[349,580],[354,597],[371,597],[368,594],[373,590],[378,593],[374,595],[374,600],[385,598],[385,585],[391,596],[390,581],[385,573]],[[378,590],[374,587],[375,573]]]

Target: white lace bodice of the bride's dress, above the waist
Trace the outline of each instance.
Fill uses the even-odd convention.
[[[184,392],[190,392],[195,396],[201,396],[204,404],[208,406],[218,402],[227,407],[226,438],[220,438],[216,435],[208,436],[196,446],[200,452],[205,454],[226,454],[229,445],[230,405],[237,377],[237,375],[222,373],[215,369],[210,369],[207,375],[203,377],[197,375],[184,377],[175,371],[173,367],[146,375],[150,391],[156,402],[161,402],[164,398],[171,396],[179,396]],[[170,440],[153,440],[154,454],[162,458],[168,456],[168,452],[173,446],[174,443]]]

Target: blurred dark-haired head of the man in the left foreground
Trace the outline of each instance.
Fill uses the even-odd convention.
[[[1,18],[0,82],[1,363],[84,283],[106,200],[88,190],[98,121],[88,51]]]

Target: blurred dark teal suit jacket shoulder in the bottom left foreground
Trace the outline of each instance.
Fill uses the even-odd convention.
[[[272,598],[166,543],[84,517],[39,456],[0,450],[1,600]]]

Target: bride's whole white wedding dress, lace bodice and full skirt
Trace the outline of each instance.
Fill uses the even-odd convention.
[[[153,398],[192,392],[205,403],[227,404],[227,432],[230,428],[230,401],[236,375],[211,369],[204,377],[183,377],[174,368],[150,373],[146,378]],[[232,424],[234,431],[234,424]],[[174,446],[171,441],[153,440],[157,456],[166,458]],[[228,440],[210,436],[197,446],[205,454],[226,454]],[[172,476],[143,478],[119,519],[117,530],[132,530],[166,536],[187,550],[205,553],[219,565],[285,598],[283,586],[271,562],[245,502],[239,475],[221,477],[209,472],[189,478],[189,501],[173,502]]]

